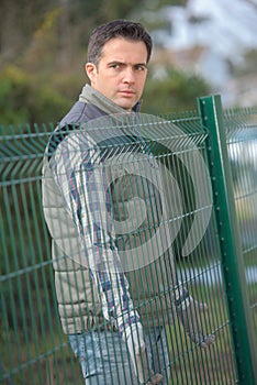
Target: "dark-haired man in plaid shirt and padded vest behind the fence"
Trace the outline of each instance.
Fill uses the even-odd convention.
[[[130,121],[139,111],[150,54],[152,38],[139,23],[115,20],[97,28],[86,64],[91,86],[83,87],[59,123],[44,160],[43,206],[53,238],[59,315],[87,385],[167,384],[165,324],[171,322],[174,305],[194,342],[205,348],[214,340],[199,329],[198,311],[204,307],[176,280],[171,251],[155,261],[137,261],[134,270],[122,267],[124,251],[139,249],[142,238],[148,240],[157,226],[158,194],[133,174],[138,151],[146,169],[150,165],[158,175],[158,166],[143,139],[138,146],[137,135],[113,136],[108,129],[124,125],[121,117]],[[127,145],[137,145],[133,155],[122,150]],[[123,163],[112,162],[116,148]],[[130,156],[138,162],[132,164]],[[148,228],[124,237],[113,222],[124,220],[124,205],[137,220],[141,207],[131,204],[135,193],[154,213]]]

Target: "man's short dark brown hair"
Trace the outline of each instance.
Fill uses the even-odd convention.
[[[92,31],[88,43],[88,62],[98,65],[104,44],[113,37],[144,42],[147,50],[147,63],[149,62],[153,47],[150,35],[141,23],[122,19],[99,25]]]

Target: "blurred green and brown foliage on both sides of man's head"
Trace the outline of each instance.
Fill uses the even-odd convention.
[[[166,28],[153,14],[182,0],[2,0],[0,13],[0,124],[58,121],[87,81],[87,41],[99,23],[115,18],[143,22],[152,32]],[[159,43],[158,43],[159,44]],[[193,109],[209,86],[194,74],[153,65],[143,112]],[[158,95],[158,100],[156,100]]]

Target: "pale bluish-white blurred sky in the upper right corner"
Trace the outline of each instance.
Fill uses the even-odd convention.
[[[165,12],[174,25],[172,34],[165,37],[166,47],[206,45],[235,61],[245,48],[257,48],[257,8],[247,0],[190,0],[186,8],[168,7]],[[192,15],[205,21],[192,24]]]

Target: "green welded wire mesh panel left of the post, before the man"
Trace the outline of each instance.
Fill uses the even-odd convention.
[[[103,317],[111,310],[97,285],[105,274],[113,284],[121,272],[131,311],[150,336],[148,350],[161,330],[155,349],[159,361],[167,359],[159,367],[166,383],[236,383],[200,118],[115,116],[51,131],[4,129],[0,136],[1,383],[82,384],[65,333],[87,329],[104,341],[111,331],[109,354],[124,366],[120,380],[104,372],[102,383],[134,384],[116,332],[123,318]],[[70,173],[68,163],[56,162],[67,155]],[[59,194],[67,174],[72,188]],[[177,317],[174,299],[182,286],[209,306],[199,328],[216,341],[206,350]]]

